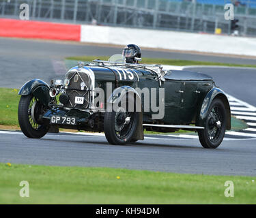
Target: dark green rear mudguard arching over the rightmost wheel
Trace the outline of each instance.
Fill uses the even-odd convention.
[[[230,130],[231,129],[231,112],[230,112],[229,100],[227,99],[227,96],[224,93],[224,91],[216,87],[210,90],[205,96],[205,98],[203,99],[203,103],[201,104],[201,109],[197,116],[196,125],[200,127],[205,127],[207,113],[210,108],[210,104],[215,98],[220,98],[223,101],[223,104],[225,105],[225,109],[227,112],[227,129]]]

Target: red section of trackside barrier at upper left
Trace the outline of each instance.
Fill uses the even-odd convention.
[[[0,36],[80,41],[81,25],[0,19]]]

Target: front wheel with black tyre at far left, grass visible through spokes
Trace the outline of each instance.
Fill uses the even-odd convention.
[[[38,119],[45,108],[33,95],[21,96],[18,104],[18,123],[23,134],[28,138],[42,138],[49,127],[40,125]]]

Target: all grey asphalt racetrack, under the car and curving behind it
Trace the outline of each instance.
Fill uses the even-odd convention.
[[[31,78],[63,78],[54,63],[67,56],[113,55],[122,48],[0,38],[0,87],[20,88]],[[255,60],[143,51],[143,57],[254,64]],[[200,68],[224,91],[256,106],[255,69]],[[225,138],[216,150],[197,138],[151,136],[127,146],[111,146],[104,136],[47,134],[40,140],[0,131],[0,162],[54,166],[104,166],[193,174],[256,174],[256,138]]]

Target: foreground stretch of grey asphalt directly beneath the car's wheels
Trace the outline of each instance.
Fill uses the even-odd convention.
[[[198,140],[147,137],[126,146],[113,146],[104,136],[48,134],[29,139],[22,133],[0,131],[0,162],[53,166],[98,166],[189,174],[255,176],[255,140],[225,140],[216,150]],[[237,143],[238,142],[238,143]]]

